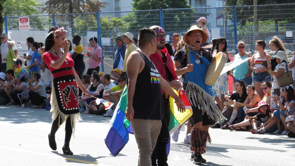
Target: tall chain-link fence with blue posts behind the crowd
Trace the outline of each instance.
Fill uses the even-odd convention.
[[[203,7],[190,9],[157,9],[131,12],[96,12],[87,14],[53,14],[29,16],[30,30],[20,31],[18,17],[5,17],[5,32],[16,41],[19,55],[27,52],[26,39],[33,37],[37,42],[45,42],[45,36],[53,25],[68,30],[68,39],[80,35],[84,53],[91,50],[89,39],[97,36],[103,50],[101,70],[110,73],[113,54],[117,47],[114,37],[131,32],[138,37],[143,27],[159,25],[166,31],[166,41],[172,43],[173,33],[181,36],[196,25],[200,17],[207,19],[207,27],[212,38],[226,38],[227,49],[233,56],[239,40],[246,43],[246,51],[255,51],[256,40],[268,41],[277,35],[286,49],[293,51],[295,43],[295,4],[259,6]],[[209,41],[209,40],[208,40]],[[75,45],[73,45],[73,48]],[[266,48],[268,49],[268,47]],[[291,53],[291,52],[289,52]],[[89,62],[84,57],[86,71]],[[86,72],[85,71],[85,72]]]

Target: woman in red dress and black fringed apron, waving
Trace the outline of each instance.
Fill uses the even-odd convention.
[[[65,122],[65,142],[62,147],[63,154],[73,155],[69,145],[75,124],[81,120],[79,111],[78,87],[89,95],[89,91],[83,86],[74,69],[74,61],[71,58],[66,39],[67,31],[63,27],[52,27],[45,41],[45,52],[42,57],[45,64],[53,74],[51,92],[52,126],[48,134],[49,146],[56,150],[55,133],[60,125]],[[64,48],[64,52],[60,49]]]

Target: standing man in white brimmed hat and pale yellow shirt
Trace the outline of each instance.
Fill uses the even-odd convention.
[[[124,43],[127,44],[126,46],[126,51],[125,51],[125,58],[124,58],[124,65],[123,65],[123,72],[125,74],[126,72],[126,63],[127,63],[127,58],[130,55],[130,53],[132,53],[132,51],[136,50],[136,45],[133,43],[133,34],[130,32],[126,32],[123,35],[123,39],[124,39]],[[124,75],[125,77],[125,75]]]

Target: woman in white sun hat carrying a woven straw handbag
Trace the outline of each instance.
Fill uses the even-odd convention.
[[[271,106],[271,109],[275,109],[275,106],[274,106],[275,95],[280,96],[281,93],[278,93],[278,92],[283,91],[283,86],[292,84],[293,78],[292,78],[292,71],[289,70],[289,72],[291,72],[291,74],[288,74],[288,75],[285,74],[288,72],[288,58],[287,58],[286,52],[278,51],[276,53],[276,55],[273,55],[272,57],[276,58],[276,62],[278,63],[278,65],[276,66],[274,71],[272,71],[271,69],[268,69],[267,67],[264,67],[264,66],[263,66],[263,68],[265,69],[265,71],[268,71],[269,74],[271,74],[271,76],[273,76],[273,87],[271,89],[271,105],[270,106]],[[282,74],[283,74],[283,76],[282,76]],[[279,89],[279,91],[276,89]],[[276,92],[276,91],[278,91],[278,92]]]

